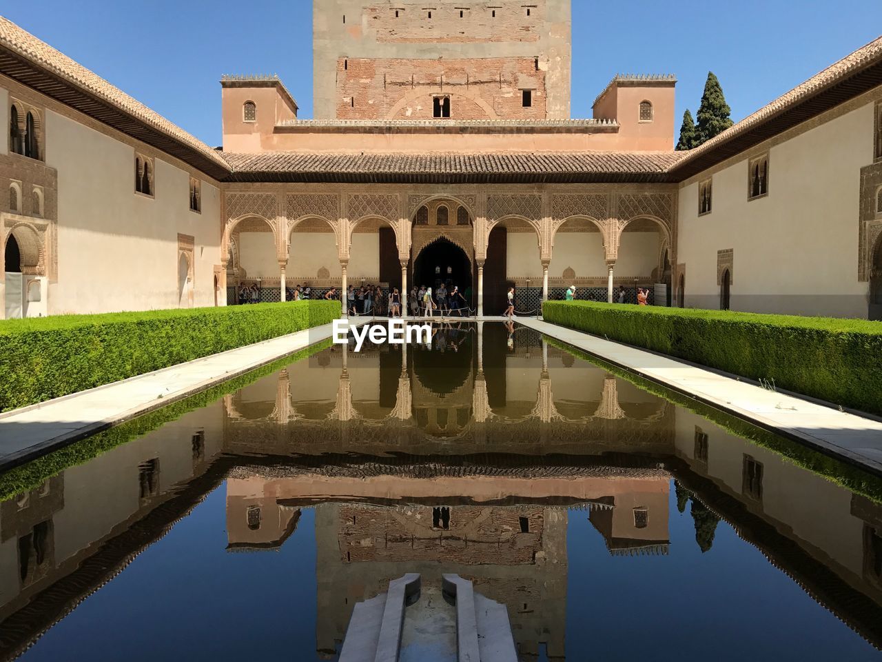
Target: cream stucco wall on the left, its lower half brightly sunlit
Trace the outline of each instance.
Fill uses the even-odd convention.
[[[140,195],[134,159],[131,146],[46,113],[46,163],[58,171],[58,279],[49,284],[49,314],[178,307],[178,233],[195,239],[194,305],[214,304],[220,192],[203,181],[202,213],[191,212],[190,174],[156,158],[155,197]]]

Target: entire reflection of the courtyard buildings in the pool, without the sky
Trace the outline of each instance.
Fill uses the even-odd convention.
[[[669,510],[671,477],[684,515]],[[230,552],[293,544],[314,508],[320,651],[389,579],[444,571],[505,602],[522,654],[562,658],[567,577],[584,562],[568,532],[596,531],[637,570],[686,551],[669,522],[690,515],[691,549],[714,554],[731,525],[882,644],[878,503],[487,324],[439,330],[431,349],[325,350],[0,504],[0,658],[186,526],[225,479]]]

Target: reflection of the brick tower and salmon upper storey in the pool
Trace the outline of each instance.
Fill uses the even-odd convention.
[[[428,471],[377,463],[243,468],[228,478],[235,509],[228,523],[237,517],[235,530],[246,529],[244,494],[263,495],[260,507],[270,511],[318,504],[319,651],[334,651],[355,604],[406,570],[422,573],[423,581],[439,581],[443,572],[472,580],[508,606],[519,651],[535,655],[544,645],[549,658],[564,658],[570,511],[587,511],[592,521],[609,514],[602,533],[614,544],[666,549],[668,490],[669,474],[652,468],[461,461]],[[624,517],[614,515],[619,510]],[[274,517],[265,527],[265,539],[285,534]],[[230,544],[238,545],[230,531]]]

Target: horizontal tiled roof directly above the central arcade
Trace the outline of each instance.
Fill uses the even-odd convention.
[[[235,182],[665,182],[678,152],[224,154]]]

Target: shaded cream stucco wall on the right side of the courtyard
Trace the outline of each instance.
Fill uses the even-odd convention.
[[[748,159],[713,172],[713,211],[698,216],[699,182],[679,194],[677,262],[685,303],[718,308],[717,251],[733,250],[731,308],[841,317],[867,316],[857,281],[860,169],[872,162],[867,103],[769,149],[764,198],[747,199]]]

